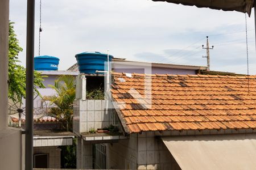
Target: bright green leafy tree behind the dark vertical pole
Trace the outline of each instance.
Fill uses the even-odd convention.
[[[14,22],[9,22],[9,99],[14,102],[22,102],[22,98],[26,98],[26,69],[19,65],[19,52],[22,48],[19,46],[19,40],[14,32]],[[42,83],[43,76],[37,71],[34,72],[34,91],[39,94],[36,87],[44,88]],[[39,94],[40,95],[40,94]]]

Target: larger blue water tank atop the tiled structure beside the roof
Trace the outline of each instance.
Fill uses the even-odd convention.
[[[112,61],[112,59],[113,56],[109,55],[109,61]],[[96,70],[105,70],[105,62],[108,62],[108,54],[84,52],[76,54],[76,60],[80,73],[95,74]],[[108,67],[106,67],[106,70],[108,70]]]

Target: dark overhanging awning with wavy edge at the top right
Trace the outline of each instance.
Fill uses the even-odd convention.
[[[165,1],[165,0],[152,0]],[[251,14],[253,0],[166,0],[166,2],[177,3],[182,5],[190,5],[197,7],[208,7],[215,10],[238,11]]]

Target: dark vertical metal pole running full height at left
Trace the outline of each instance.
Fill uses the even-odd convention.
[[[33,168],[35,0],[27,0],[25,169]]]

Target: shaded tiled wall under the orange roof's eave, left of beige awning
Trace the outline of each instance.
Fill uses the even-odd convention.
[[[106,144],[109,169],[180,169],[154,132],[131,134],[129,139]]]

